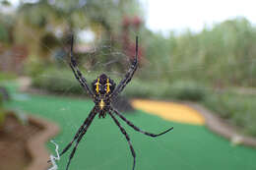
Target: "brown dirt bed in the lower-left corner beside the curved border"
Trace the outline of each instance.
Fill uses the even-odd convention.
[[[39,131],[33,125],[23,125],[8,115],[0,129],[0,170],[23,170],[32,161],[27,142]]]

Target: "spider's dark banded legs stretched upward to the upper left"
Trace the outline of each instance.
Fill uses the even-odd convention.
[[[78,64],[75,60],[75,57],[73,56],[73,43],[74,43],[74,35],[72,34],[71,37],[71,47],[70,47],[70,58],[71,58],[71,62],[69,63],[69,66],[71,67],[76,79],[78,80],[78,82],[80,83],[80,85],[83,86],[83,88],[91,95],[91,97],[94,96],[94,92],[92,91],[92,89],[89,87],[87,80],[83,77],[82,73],[80,72],[79,68],[78,68]]]

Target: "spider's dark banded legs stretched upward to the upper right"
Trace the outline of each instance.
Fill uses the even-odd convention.
[[[123,90],[123,88],[132,80],[132,77],[133,77],[135,71],[137,70],[137,68],[138,68],[138,36],[136,36],[136,55],[135,55],[135,59],[132,61],[130,69],[125,74],[123,80],[119,83],[119,85],[116,86],[116,88],[114,89],[114,91],[110,95],[110,97],[111,96],[113,96],[113,97],[117,96]]]

